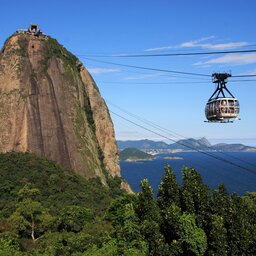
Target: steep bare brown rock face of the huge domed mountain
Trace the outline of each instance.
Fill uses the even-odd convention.
[[[0,152],[8,151],[45,156],[103,183],[106,171],[120,176],[113,124],[95,82],[48,36],[16,33],[0,53]]]

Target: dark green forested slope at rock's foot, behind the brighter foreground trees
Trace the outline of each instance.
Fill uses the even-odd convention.
[[[118,178],[112,179],[109,177],[109,184],[121,182]],[[0,217],[13,212],[17,194],[28,185],[40,191],[34,199],[53,213],[66,206],[78,205],[99,214],[115,196],[102,186],[99,178],[88,181],[46,158],[28,153],[0,154]]]

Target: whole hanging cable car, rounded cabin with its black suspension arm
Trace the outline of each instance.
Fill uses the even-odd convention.
[[[207,122],[229,123],[238,119],[240,110],[238,99],[226,87],[227,73],[214,73],[213,83],[217,84],[216,90],[208,100],[205,107]]]

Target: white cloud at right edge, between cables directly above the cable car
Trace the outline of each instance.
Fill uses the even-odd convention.
[[[251,54],[225,54],[224,56],[213,58],[207,61],[200,61],[194,65],[209,64],[229,64],[229,65],[246,65],[256,63],[256,53]]]

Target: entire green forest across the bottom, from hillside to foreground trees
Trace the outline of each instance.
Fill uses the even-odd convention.
[[[214,191],[193,168],[147,179],[86,180],[28,153],[0,154],[0,256],[256,255],[256,193]]]

